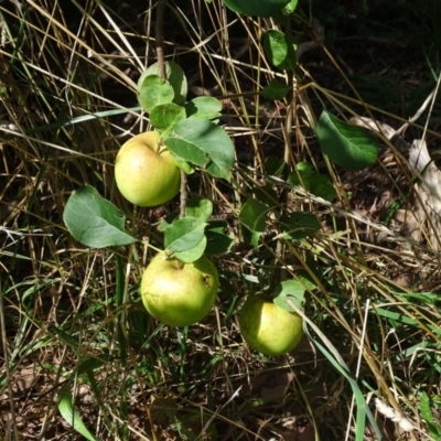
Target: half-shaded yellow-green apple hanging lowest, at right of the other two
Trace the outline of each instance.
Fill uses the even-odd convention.
[[[303,336],[302,318],[282,310],[265,295],[248,297],[239,311],[244,340],[265,355],[292,351]]]

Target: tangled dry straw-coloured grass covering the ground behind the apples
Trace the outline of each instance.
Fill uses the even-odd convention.
[[[62,401],[98,440],[196,439],[209,422],[222,440],[355,439],[361,427],[365,439],[376,439],[352,406],[355,391],[335,365],[344,363],[384,439],[430,439],[420,404],[426,394],[437,424],[440,256],[433,244],[399,230],[391,202],[411,209],[411,172],[390,144],[384,162],[357,175],[323,160],[312,130],[322,106],[347,118],[369,107],[312,79],[310,67],[320,77],[314,57],[299,69],[292,103],[263,104],[261,87],[283,79],[262,56],[261,33],[277,26],[270,20],[237,17],[219,1],[170,4],[165,14],[166,57],[182,65],[191,94],[223,100],[222,123],[237,152],[230,184],[202,174],[189,180],[236,238],[216,259],[222,290],[212,314],[189,330],[159,325],[137,291],[150,249],[85,249],[66,232],[63,207],[84,183],[123,209],[144,244],[161,247],[158,222],[176,208],[136,209],[115,187],[116,151],[149,123],[136,82],[155,61],[155,10],[151,1],[109,3],[0,7],[0,438],[83,439],[60,412]],[[306,22],[295,21],[310,39]],[[331,52],[319,60],[343,75]],[[387,117],[399,126],[398,116]],[[276,236],[273,223],[254,249],[237,214],[244,196],[268,182],[261,171],[270,154],[316,164],[337,198],[325,204],[292,192],[288,209],[314,213],[321,234],[293,243]],[[244,344],[236,312],[280,269],[306,271],[320,290],[309,293],[311,340],[266,358]],[[375,397],[413,432],[400,429],[398,417],[377,415]]]

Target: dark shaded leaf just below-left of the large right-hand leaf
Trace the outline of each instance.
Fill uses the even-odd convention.
[[[300,185],[315,196],[323,197],[325,201],[333,201],[336,196],[334,185],[331,180],[315,171],[308,162],[299,162],[297,172],[293,171],[288,176],[288,183],[295,186]]]

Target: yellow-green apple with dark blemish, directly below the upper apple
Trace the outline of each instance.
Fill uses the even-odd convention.
[[[159,252],[142,275],[141,297],[147,311],[160,322],[187,326],[208,314],[218,284],[217,270],[207,257],[184,263]]]

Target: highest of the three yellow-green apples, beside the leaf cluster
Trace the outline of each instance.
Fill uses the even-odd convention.
[[[157,131],[129,139],[120,148],[115,179],[121,194],[132,204],[155,206],[180,191],[181,172],[169,150],[161,146]]]

